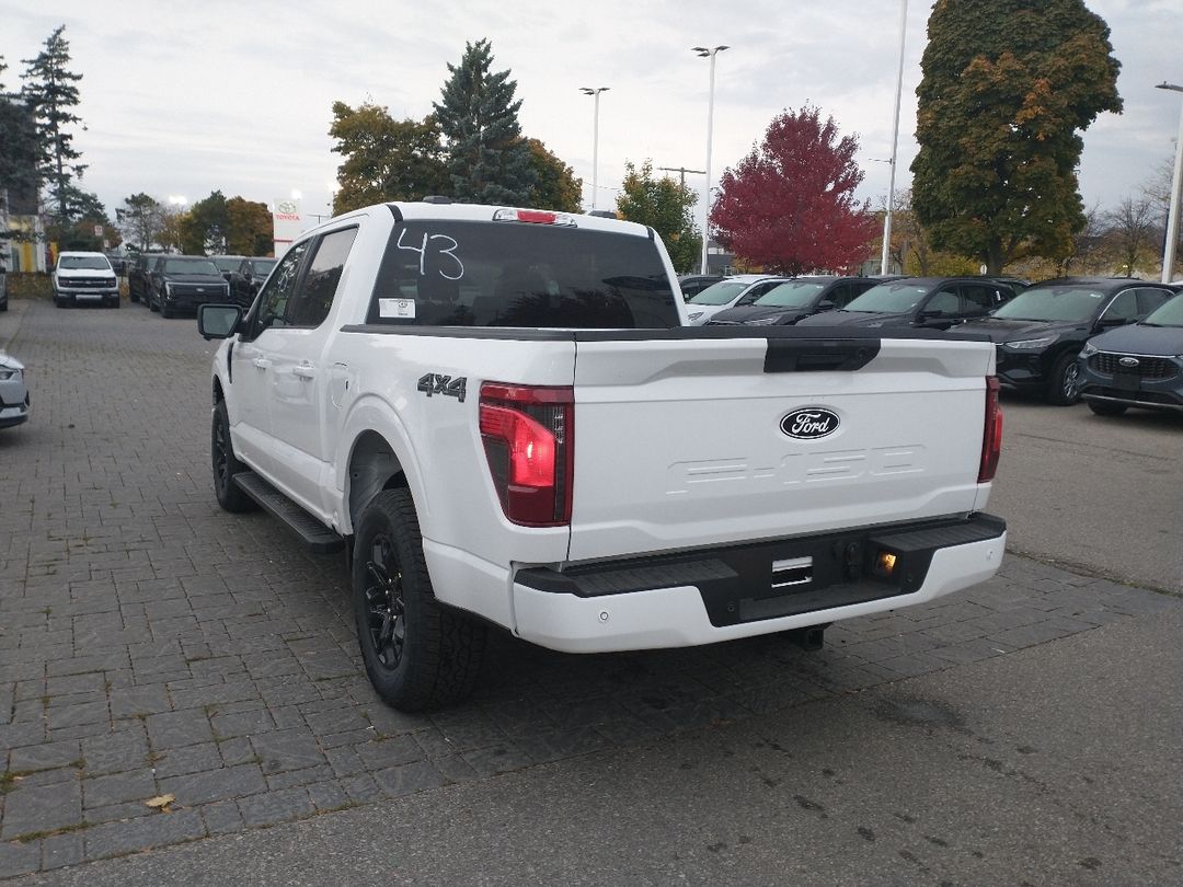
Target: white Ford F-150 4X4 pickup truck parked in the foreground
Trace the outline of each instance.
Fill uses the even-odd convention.
[[[651,229],[389,203],[203,305],[214,490],[345,548],[366,671],[468,692],[489,623],[558,650],[794,632],[998,569],[994,345],[687,328]]]

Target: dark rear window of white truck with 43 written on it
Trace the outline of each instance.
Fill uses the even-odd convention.
[[[523,222],[407,221],[390,234],[367,323],[680,325],[653,241]]]

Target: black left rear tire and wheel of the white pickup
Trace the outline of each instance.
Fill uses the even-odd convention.
[[[418,712],[472,692],[487,628],[435,600],[408,491],[384,490],[366,506],[351,578],[362,661],[383,700]]]

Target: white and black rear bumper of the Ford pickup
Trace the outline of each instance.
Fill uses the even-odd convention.
[[[519,570],[518,636],[568,653],[689,647],[924,603],[1002,564],[1006,524],[969,519],[574,568]],[[879,551],[893,578],[874,575]]]

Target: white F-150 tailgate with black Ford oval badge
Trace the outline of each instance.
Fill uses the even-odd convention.
[[[569,557],[968,513],[993,371],[987,342],[582,335]]]

